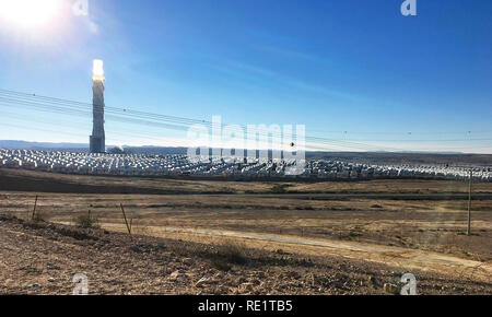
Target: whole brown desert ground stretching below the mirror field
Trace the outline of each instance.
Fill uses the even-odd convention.
[[[70,293],[83,271],[96,294],[382,294],[403,273],[421,294],[492,294],[492,184],[472,198],[467,236],[466,181],[0,169],[0,292]]]

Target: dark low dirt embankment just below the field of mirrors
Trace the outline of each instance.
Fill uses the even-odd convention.
[[[122,177],[68,175],[46,172],[0,168],[0,190],[60,193],[140,193],[140,195],[189,195],[189,193],[237,193],[303,196],[316,199],[336,199],[338,196],[386,197],[398,199],[466,199],[468,183],[457,180],[424,179],[376,179],[327,181],[312,179],[304,181],[233,181],[187,177]],[[475,198],[492,196],[492,183],[473,185]],[[324,196],[325,195],[325,196]]]

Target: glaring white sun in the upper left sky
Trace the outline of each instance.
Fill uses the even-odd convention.
[[[0,0],[0,24],[44,26],[56,19],[60,7],[60,0]]]

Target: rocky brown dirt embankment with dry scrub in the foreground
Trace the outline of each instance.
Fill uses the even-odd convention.
[[[382,294],[401,269],[338,257],[206,245],[0,216],[0,293]],[[413,272],[419,294],[492,294],[492,284]]]

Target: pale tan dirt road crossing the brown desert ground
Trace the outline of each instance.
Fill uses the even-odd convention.
[[[122,225],[107,224],[108,230],[124,231]],[[324,254],[344,258],[366,260],[396,266],[408,270],[423,270],[449,275],[461,275],[478,281],[492,281],[492,263],[484,263],[453,257],[444,254],[423,251],[419,249],[363,244],[356,242],[339,242],[329,239],[311,239],[294,236],[256,234],[233,231],[179,228],[166,226],[148,226],[147,232],[153,236],[172,237],[174,233],[206,235],[239,239],[253,239],[273,243],[270,248],[283,248],[297,253]],[[190,238],[192,239],[192,238]],[[305,248],[312,247],[311,249]]]

